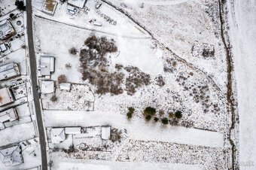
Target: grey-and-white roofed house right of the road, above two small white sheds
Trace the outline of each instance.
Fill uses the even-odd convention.
[[[54,72],[55,58],[53,56],[40,56],[39,62],[41,76],[50,76]]]

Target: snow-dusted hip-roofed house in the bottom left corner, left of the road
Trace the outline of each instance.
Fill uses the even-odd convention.
[[[0,150],[0,158],[5,166],[20,165],[23,163],[20,145]]]

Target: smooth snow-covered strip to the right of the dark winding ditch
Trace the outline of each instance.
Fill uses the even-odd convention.
[[[240,169],[256,166],[256,3],[228,1],[239,109]]]

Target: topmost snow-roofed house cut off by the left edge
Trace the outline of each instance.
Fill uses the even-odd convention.
[[[0,40],[6,40],[11,38],[11,36],[15,35],[14,26],[11,25],[11,22],[8,20],[0,21]]]

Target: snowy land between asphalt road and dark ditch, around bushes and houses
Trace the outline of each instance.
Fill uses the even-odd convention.
[[[66,143],[59,144],[61,149],[55,148],[58,145],[50,149],[52,168],[116,169],[123,165],[123,169],[131,169],[138,164],[142,164],[138,169],[230,167],[227,68],[220,38],[218,1],[114,0],[111,3],[129,16],[106,3],[96,10],[93,0],[86,3],[90,8],[87,13],[79,11],[71,17],[64,3],[58,5],[54,16],[48,16],[38,11],[40,3],[34,1],[35,51],[38,56],[44,53],[56,59],[50,77],[56,89],[54,93],[41,94],[45,126],[50,129],[111,125],[123,132],[118,143],[102,141],[99,136],[69,135]],[[99,14],[111,17],[116,26]],[[102,26],[93,25],[93,20]],[[105,68],[126,77],[121,80],[123,91],[119,95],[100,94],[99,87],[82,79],[79,53],[88,48],[84,41],[92,34],[113,39],[111,42],[117,46],[116,52],[105,56],[108,64]],[[72,47],[78,50],[77,54],[69,53]],[[117,68],[117,64],[122,66]],[[133,76],[132,71],[127,71],[131,65],[150,77],[147,85],[136,88],[132,94],[124,83]],[[61,74],[72,83],[70,91],[59,89],[57,81]],[[162,85],[159,77],[163,78]],[[182,118],[175,126],[147,122],[142,113],[148,106],[157,108],[156,117],[160,119],[178,110],[182,111]],[[131,120],[126,118],[128,107],[135,108]],[[71,143],[75,151],[66,149]],[[87,144],[99,150],[80,148]],[[96,165],[88,159],[100,161]],[[153,162],[157,164],[152,165]]]

